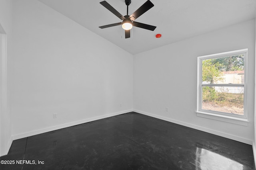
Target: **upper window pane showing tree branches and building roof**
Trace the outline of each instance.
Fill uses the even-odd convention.
[[[244,54],[202,60],[202,84],[244,84]]]

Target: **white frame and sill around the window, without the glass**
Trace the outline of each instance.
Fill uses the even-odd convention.
[[[244,56],[244,84],[232,84],[232,85],[231,84],[202,84],[202,61],[203,60],[218,59],[222,57],[228,57],[232,55],[241,55],[241,54],[245,55]],[[200,56],[197,58],[197,109],[196,109],[197,116],[248,126],[247,111],[246,111],[247,110],[246,109],[247,56],[248,56],[248,49],[241,49],[236,51],[229,51],[224,53]],[[244,115],[234,115],[234,114],[220,112],[220,111],[201,109],[203,86],[243,86],[244,87]]]

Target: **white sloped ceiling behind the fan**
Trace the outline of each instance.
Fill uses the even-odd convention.
[[[122,26],[99,26],[121,22],[100,4],[102,0],[39,0],[92,32],[131,54],[194,37],[215,29],[250,20],[256,16],[256,0],[150,0],[154,7],[136,21],[156,26],[154,31],[133,27],[131,38],[124,38]],[[124,0],[106,0],[123,16]],[[129,15],[146,0],[132,0]],[[161,33],[161,38],[155,35]]]

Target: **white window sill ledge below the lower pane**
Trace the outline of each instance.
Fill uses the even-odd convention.
[[[243,125],[243,126],[248,126],[248,123],[249,123],[249,121],[247,119],[226,116],[226,115],[218,115],[218,114],[207,113],[207,112],[203,112],[203,111],[196,111],[196,115],[198,117],[204,117],[204,118],[208,118],[208,119],[214,119],[214,120],[218,120],[218,121],[224,121],[224,122],[234,123],[234,124]]]

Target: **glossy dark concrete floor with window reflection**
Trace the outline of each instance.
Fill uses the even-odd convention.
[[[134,112],[18,139],[0,160],[15,161],[1,170],[255,170],[251,145]]]

